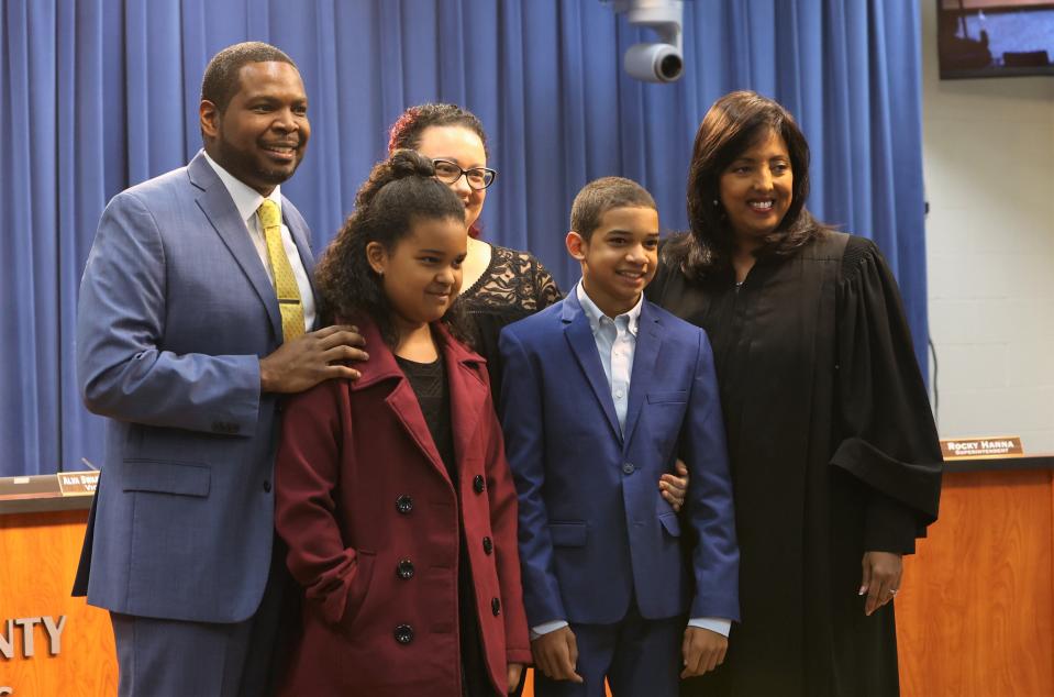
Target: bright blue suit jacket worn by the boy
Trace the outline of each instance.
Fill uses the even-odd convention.
[[[644,301],[625,438],[574,292],[506,328],[500,348],[530,624],[617,622],[631,597],[648,619],[737,620],[732,487],[706,333]],[[658,491],[678,455],[690,474],[680,517]]]

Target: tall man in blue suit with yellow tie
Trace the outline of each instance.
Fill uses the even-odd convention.
[[[110,610],[120,694],[262,695],[284,580],[274,550],[279,395],[362,358],[315,322],[309,231],[279,185],[307,96],[260,43],[210,62],[204,151],[119,193],[80,286],[77,369],[109,418],[75,595]]]

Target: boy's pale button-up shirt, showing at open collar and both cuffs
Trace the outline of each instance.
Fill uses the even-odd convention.
[[[575,286],[575,294],[581,305],[589,329],[592,330],[593,341],[597,342],[597,352],[603,365],[604,377],[611,388],[611,400],[614,402],[614,412],[619,417],[619,425],[625,431],[625,408],[630,399],[630,376],[633,372],[633,356],[636,353],[636,334],[641,324],[641,308],[644,307],[644,296],[628,312],[612,319],[603,313],[592,301],[581,281]],[[694,617],[688,621],[689,627],[709,629],[724,637],[729,635],[732,621],[714,617]],[[565,620],[553,620],[531,628],[531,638],[537,639],[542,634],[567,627]]]

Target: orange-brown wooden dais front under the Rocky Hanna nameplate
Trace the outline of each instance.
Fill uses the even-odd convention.
[[[897,597],[906,697],[1054,695],[1050,471],[945,474]]]

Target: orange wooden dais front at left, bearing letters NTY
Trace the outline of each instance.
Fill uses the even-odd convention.
[[[69,597],[88,511],[0,516],[0,641],[12,639],[14,657],[0,653],[0,687],[12,697],[117,694],[113,632],[106,611]],[[23,657],[23,628],[8,620],[47,616],[66,622],[60,651],[51,655],[43,624],[32,628],[34,655]]]

